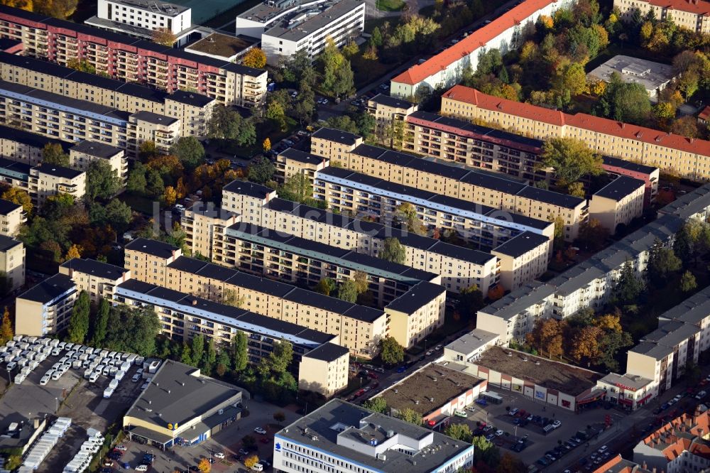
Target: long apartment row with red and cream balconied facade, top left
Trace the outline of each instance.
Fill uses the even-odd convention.
[[[60,65],[86,60],[114,79],[168,92],[195,90],[225,105],[252,107],[266,96],[266,70],[9,6],[0,7],[0,37],[21,41],[28,56]]]

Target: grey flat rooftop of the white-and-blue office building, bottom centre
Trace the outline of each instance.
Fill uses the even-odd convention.
[[[388,431],[396,437],[395,447],[400,445],[422,445],[413,455],[400,452],[397,448],[384,450]],[[368,455],[371,439],[379,440],[378,447],[386,451],[387,460]],[[459,442],[441,433],[406,423],[389,415],[373,413],[366,408],[333,399],[312,413],[305,415],[275,434],[275,441],[290,440],[300,445],[316,448],[326,455],[333,455],[349,462],[360,464],[364,469],[377,472],[431,472],[438,467],[472,452],[473,446]],[[339,445],[344,442],[345,445]]]

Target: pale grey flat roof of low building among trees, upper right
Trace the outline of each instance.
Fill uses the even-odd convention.
[[[673,77],[673,67],[660,62],[618,55],[604,62],[587,74],[604,82],[611,80],[612,74],[618,74],[623,82],[636,82],[648,91],[663,88]]]

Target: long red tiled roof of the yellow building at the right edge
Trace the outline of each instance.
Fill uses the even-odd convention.
[[[469,89],[469,91],[465,89]],[[677,149],[687,153],[710,156],[710,141],[686,138],[684,136],[666,133],[665,131],[646,128],[645,126],[625,124],[621,121],[601,118],[600,116],[582,113],[574,115],[565,114],[546,109],[545,107],[538,107],[537,105],[493,97],[492,95],[486,95],[483,92],[462,85],[455,85],[447,92],[444,92],[443,97],[474,104],[481,109],[499,110],[506,114],[534,119],[557,126],[569,125],[596,131],[598,133],[618,136],[619,138],[665,146],[666,148]]]

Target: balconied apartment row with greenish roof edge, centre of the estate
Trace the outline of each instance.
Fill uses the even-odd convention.
[[[235,268],[298,286],[313,287],[322,279],[336,283],[366,275],[373,303],[383,307],[412,286],[427,281],[441,287],[441,276],[356,251],[259,227],[234,224],[224,232],[224,262]]]

